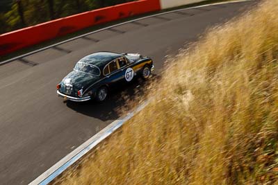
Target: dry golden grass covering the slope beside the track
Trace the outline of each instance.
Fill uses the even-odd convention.
[[[277,184],[278,1],[212,28],[59,184]]]

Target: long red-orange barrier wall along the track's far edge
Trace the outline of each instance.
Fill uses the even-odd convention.
[[[140,0],[83,12],[0,35],[0,55],[96,24],[161,10],[159,0]]]

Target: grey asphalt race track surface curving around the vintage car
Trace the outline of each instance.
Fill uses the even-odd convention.
[[[63,103],[56,84],[77,60],[96,51],[135,52],[153,58],[194,42],[255,2],[180,10],[117,26],[0,66],[0,184],[28,184],[121,115],[120,92],[103,104]],[[199,61],[202,62],[202,61]],[[138,82],[128,87],[132,98]]]

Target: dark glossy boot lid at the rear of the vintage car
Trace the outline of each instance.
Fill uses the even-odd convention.
[[[72,71],[65,76],[62,80],[63,85],[72,85],[74,91],[80,89],[86,89],[93,83],[97,82],[100,79],[99,76],[92,76],[87,73],[82,73],[79,71]]]

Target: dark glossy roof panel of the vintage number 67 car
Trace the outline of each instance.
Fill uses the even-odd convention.
[[[101,52],[92,53],[90,55],[87,55],[84,58],[82,58],[81,60],[79,60],[79,62],[93,64],[102,69],[106,66],[106,64],[108,64],[112,60],[115,60],[116,58],[120,58],[121,56],[123,56],[123,55],[119,54],[119,53],[101,51]]]

